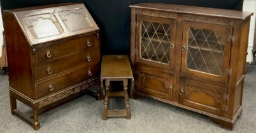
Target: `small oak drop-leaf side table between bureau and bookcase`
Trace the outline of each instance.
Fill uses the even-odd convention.
[[[124,91],[110,91],[110,81],[122,81]],[[106,55],[102,56],[101,61],[101,90],[103,90],[104,107],[103,120],[108,117],[127,117],[131,118],[131,107],[128,96],[128,84],[133,89],[134,78],[132,76],[131,65],[127,55]],[[110,97],[124,97],[125,110],[109,110],[108,101]]]

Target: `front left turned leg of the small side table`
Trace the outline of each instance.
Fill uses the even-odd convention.
[[[103,107],[103,120],[108,119],[108,91],[110,90],[110,80],[105,80],[105,96],[104,96],[104,107]]]

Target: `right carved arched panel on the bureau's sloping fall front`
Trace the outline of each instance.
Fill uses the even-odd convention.
[[[59,16],[69,31],[92,28],[92,22],[82,8],[59,11]]]

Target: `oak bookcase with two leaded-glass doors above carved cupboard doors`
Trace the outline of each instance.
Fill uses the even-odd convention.
[[[130,7],[131,96],[196,111],[232,129],[242,113],[252,13],[160,3]]]

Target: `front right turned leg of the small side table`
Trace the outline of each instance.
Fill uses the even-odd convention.
[[[128,80],[124,80],[124,101],[125,101],[125,110],[127,119],[131,119],[131,107],[128,96]]]

